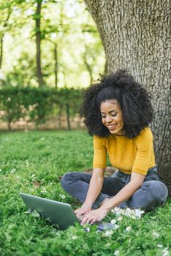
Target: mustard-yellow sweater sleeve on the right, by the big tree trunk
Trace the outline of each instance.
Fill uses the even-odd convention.
[[[153,152],[153,135],[150,128],[145,128],[135,139],[137,155],[134,160],[132,172],[146,175]]]

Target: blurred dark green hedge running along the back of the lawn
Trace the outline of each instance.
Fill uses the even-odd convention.
[[[9,129],[12,121],[29,116],[31,121],[41,124],[47,121],[58,106],[66,105],[72,109],[69,115],[78,113],[82,91],[78,89],[50,89],[5,86],[0,89],[0,106],[4,110],[1,118],[8,121]]]

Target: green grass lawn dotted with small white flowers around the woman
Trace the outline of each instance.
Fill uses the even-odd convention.
[[[61,231],[45,219],[26,214],[19,192],[80,205],[66,195],[59,181],[67,171],[91,167],[92,138],[86,132],[1,133],[0,141],[1,256],[101,256],[117,255],[116,251],[118,255],[169,255],[171,200],[141,219],[123,217],[111,236],[97,233],[95,226],[87,233],[80,225]],[[106,219],[115,216],[111,213]],[[129,232],[128,226],[132,227]]]

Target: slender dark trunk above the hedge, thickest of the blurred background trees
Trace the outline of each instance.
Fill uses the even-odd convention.
[[[42,67],[41,67],[41,29],[40,29],[41,7],[42,7],[42,1],[37,0],[37,12],[35,15],[35,20],[36,20],[36,44],[37,44],[37,79],[38,79],[39,87],[43,86]]]

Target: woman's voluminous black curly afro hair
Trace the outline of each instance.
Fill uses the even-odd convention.
[[[84,118],[90,135],[102,138],[110,135],[109,129],[102,124],[100,113],[101,103],[109,99],[116,99],[121,107],[126,137],[139,135],[152,121],[153,108],[147,91],[132,75],[125,70],[118,70],[90,86],[83,94],[80,116]]]

